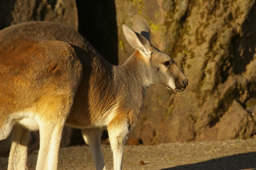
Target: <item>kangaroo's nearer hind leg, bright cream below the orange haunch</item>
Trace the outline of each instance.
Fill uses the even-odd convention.
[[[37,170],[56,170],[62,130],[72,106],[69,96],[47,98],[41,108],[38,120],[40,149],[37,158]]]

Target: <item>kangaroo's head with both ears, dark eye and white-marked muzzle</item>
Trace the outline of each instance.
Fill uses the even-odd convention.
[[[168,54],[150,43],[150,29],[146,19],[141,15],[135,15],[134,31],[126,25],[122,27],[128,43],[136,49],[130,58],[141,61],[139,69],[145,74],[147,84],[182,92],[188,85],[188,80]],[[130,58],[128,61],[132,60]]]

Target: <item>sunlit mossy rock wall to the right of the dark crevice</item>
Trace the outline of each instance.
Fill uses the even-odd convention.
[[[251,0],[116,0],[119,64],[134,51],[121,30],[135,14],[184,71],[182,93],[147,90],[128,143],[249,138],[256,133],[256,4]]]

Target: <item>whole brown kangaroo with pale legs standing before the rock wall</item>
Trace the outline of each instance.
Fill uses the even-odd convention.
[[[77,31],[31,21],[0,31],[0,140],[12,131],[8,169],[27,169],[29,132],[39,130],[36,169],[56,170],[64,125],[79,128],[97,170],[107,129],[114,170],[122,169],[127,134],[150,85],[181,92],[188,80],[172,58],[150,43],[150,28],[135,15],[122,25],[135,52],[120,66],[107,62]]]

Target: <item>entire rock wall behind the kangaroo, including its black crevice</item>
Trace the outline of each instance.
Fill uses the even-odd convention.
[[[78,30],[79,16],[79,32],[108,61],[122,64],[134,49],[121,25],[132,28],[141,14],[152,44],[176,61],[189,85],[182,93],[150,87],[128,144],[225,140],[256,134],[255,10],[255,0],[3,0],[0,29],[45,20]],[[71,129],[63,136],[68,146]],[[30,150],[37,149],[38,132],[30,137]],[[9,144],[0,141],[0,152]]]

